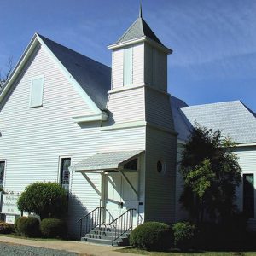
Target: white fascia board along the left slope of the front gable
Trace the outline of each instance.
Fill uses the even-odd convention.
[[[13,72],[10,74],[9,79],[6,81],[6,83],[3,87],[2,93],[0,94],[0,102],[3,101],[4,96],[9,91],[9,88],[11,87],[11,85],[15,82],[15,79],[18,77],[22,67],[25,66],[26,61],[28,60],[30,55],[32,55],[33,49],[35,49],[37,47],[38,41],[36,40],[36,38],[37,38],[37,34],[35,34],[32,37],[32,39],[31,39],[30,43],[27,45],[24,53],[21,55],[20,60],[16,64]]]

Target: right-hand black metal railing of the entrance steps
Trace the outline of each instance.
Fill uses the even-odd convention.
[[[129,209],[109,224],[112,228],[112,246],[113,242],[124,235],[126,231],[132,230],[133,212],[135,211],[136,209]]]

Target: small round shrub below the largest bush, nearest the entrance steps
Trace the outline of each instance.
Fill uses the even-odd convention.
[[[40,224],[41,233],[48,238],[65,237],[66,224],[59,218],[44,218]]]

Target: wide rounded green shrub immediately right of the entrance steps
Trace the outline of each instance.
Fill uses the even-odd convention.
[[[172,247],[172,229],[160,222],[145,222],[131,231],[130,244],[145,250],[165,251]]]

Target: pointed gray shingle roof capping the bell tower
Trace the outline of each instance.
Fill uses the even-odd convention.
[[[139,17],[135,22],[126,30],[121,38],[116,42],[116,44],[124,43],[137,38],[147,37],[158,44],[163,45],[160,39],[154,34],[151,28],[148,26],[147,22],[143,18]]]

